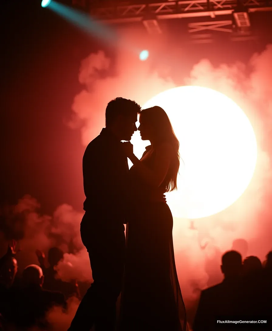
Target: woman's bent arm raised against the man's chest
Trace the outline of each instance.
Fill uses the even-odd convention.
[[[172,157],[172,146],[164,143],[156,148],[155,168],[150,170],[134,154],[128,156],[133,163],[135,170],[152,187],[159,187],[163,182],[170,166]]]

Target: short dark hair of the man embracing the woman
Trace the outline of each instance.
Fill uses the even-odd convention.
[[[111,125],[119,116],[130,116],[141,112],[141,107],[134,101],[121,97],[111,100],[106,108],[106,126]]]

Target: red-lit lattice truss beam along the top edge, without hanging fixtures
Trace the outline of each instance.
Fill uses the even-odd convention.
[[[90,9],[90,14],[104,23],[118,24],[141,22],[152,15],[156,20],[186,17],[215,18],[235,11],[237,0],[183,0],[159,3],[127,4]],[[272,11],[272,0],[246,0],[249,13]]]

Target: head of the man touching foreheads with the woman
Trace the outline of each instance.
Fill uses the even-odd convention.
[[[137,115],[141,107],[132,100],[115,98],[106,108],[106,128],[109,128],[120,140],[130,141],[137,131]]]

